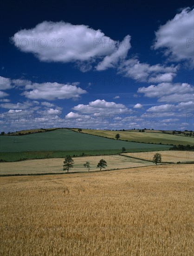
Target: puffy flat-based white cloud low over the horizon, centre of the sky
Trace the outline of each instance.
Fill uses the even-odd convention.
[[[89,102],[88,105],[79,104],[75,106],[73,110],[81,113],[125,113],[129,112],[129,109],[123,104],[116,104],[115,102],[107,102],[105,100],[96,100]]]

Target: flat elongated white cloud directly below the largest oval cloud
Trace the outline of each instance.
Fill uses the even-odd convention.
[[[78,99],[81,94],[87,93],[75,85],[51,82],[29,84],[26,85],[25,89],[26,91],[22,95],[25,95],[26,98],[31,100],[45,99],[53,101],[55,99]]]

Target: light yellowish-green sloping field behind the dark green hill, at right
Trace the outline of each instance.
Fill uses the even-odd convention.
[[[73,129],[77,131],[78,129]],[[137,131],[106,131],[106,130],[88,130],[82,129],[82,133],[103,136],[108,138],[115,138],[115,135],[119,133],[120,140],[137,141],[144,143],[162,143],[162,144],[173,144],[173,145],[194,145],[194,137],[186,137],[179,135],[170,135],[156,132],[137,132]]]

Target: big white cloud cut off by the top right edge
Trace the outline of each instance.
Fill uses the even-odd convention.
[[[194,9],[184,8],[155,32],[154,48],[164,48],[171,61],[194,60]]]

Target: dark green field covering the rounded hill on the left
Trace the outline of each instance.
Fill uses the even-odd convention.
[[[169,146],[128,141],[58,129],[23,136],[0,136],[0,160],[64,157],[65,155],[116,154],[125,147],[128,152],[168,150]]]

